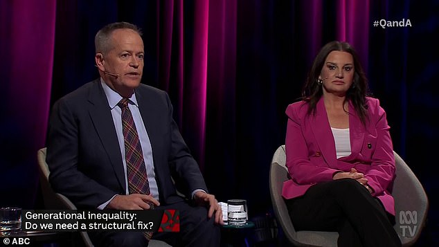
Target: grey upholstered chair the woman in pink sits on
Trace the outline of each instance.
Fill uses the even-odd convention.
[[[395,154],[396,177],[393,183],[396,224],[394,226],[403,246],[412,246],[420,237],[427,219],[429,202],[420,181],[410,167]],[[294,246],[337,246],[337,232],[296,231],[282,197],[283,182],[287,178],[285,145],[278,147],[270,167],[270,194],[274,214],[285,236]]]

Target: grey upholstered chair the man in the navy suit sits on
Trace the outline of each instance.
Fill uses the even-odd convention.
[[[76,206],[64,195],[56,193],[52,190],[50,183],[48,183],[48,165],[46,163],[46,147],[39,149],[37,152],[39,165],[39,181],[42,187],[44,206],[46,209],[69,209],[75,210]],[[87,232],[79,232],[84,246],[93,247]],[[151,247],[169,247],[164,241],[154,240],[150,241],[148,246]]]

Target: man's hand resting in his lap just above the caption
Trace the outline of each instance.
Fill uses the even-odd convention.
[[[159,201],[149,194],[118,194],[108,203],[107,209],[117,210],[149,210],[160,205]]]

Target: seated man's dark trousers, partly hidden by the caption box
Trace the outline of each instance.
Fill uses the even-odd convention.
[[[180,232],[155,232],[152,239],[171,246],[220,246],[220,226],[215,225],[214,217],[208,219],[206,207],[183,201],[157,209],[179,210]],[[89,236],[95,246],[147,246],[143,232],[89,232]]]

